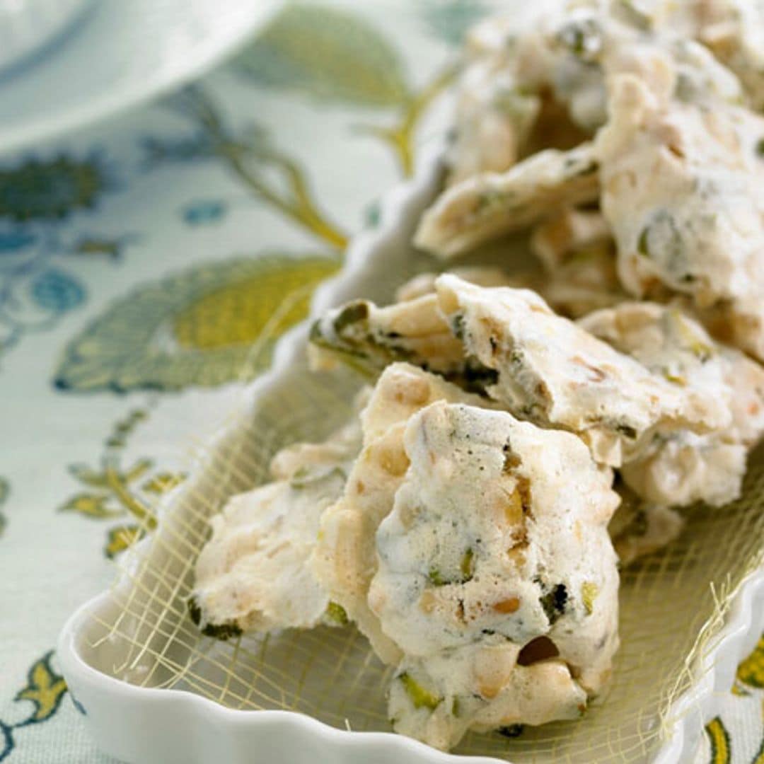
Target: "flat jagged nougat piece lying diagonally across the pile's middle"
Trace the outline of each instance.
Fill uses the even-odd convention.
[[[636,458],[656,433],[729,423],[713,396],[653,374],[555,315],[536,293],[481,289],[448,275],[436,289],[465,351],[497,374],[489,396],[523,419],[575,432],[602,464]]]

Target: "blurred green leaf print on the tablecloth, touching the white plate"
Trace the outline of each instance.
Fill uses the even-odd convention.
[[[409,92],[403,61],[380,32],[322,5],[288,5],[232,65],[257,85],[325,101],[384,107]]]

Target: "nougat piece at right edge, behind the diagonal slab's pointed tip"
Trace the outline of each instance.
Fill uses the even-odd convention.
[[[706,435],[677,431],[656,435],[624,480],[640,497],[685,506],[720,506],[740,496],[746,455],[764,434],[764,369],[734,348],[720,345],[673,306],[621,303],[581,319],[580,325],[630,354],[682,390],[715,397],[730,422]]]

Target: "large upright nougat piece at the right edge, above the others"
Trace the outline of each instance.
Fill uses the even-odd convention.
[[[597,147],[623,286],[636,296],[668,287],[700,309],[726,304],[760,331],[764,118],[729,104],[667,105],[633,76],[611,89]]]

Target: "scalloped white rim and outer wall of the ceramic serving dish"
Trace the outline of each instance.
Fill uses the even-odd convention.
[[[433,154],[422,165],[422,172],[415,180],[393,189],[387,196],[380,228],[364,232],[354,240],[342,274],[319,287],[312,303],[314,316],[354,296],[371,296],[380,282],[390,278],[390,271],[403,279],[406,270],[431,265],[431,261],[422,262],[423,256],[411,250],[410,238],[416,220],[439,183],[438,154]],[[419,261],[415,262],[417,258]],[[145,659],[149,655],[158,657],[171,668],[174,666],[173,672],[178,676],[192,665],[187,662],[184,645],[189,631],[187,625],[183,625],[187,617],[183,615],[182,588],[183,581],[187,581],[191,574],[193,555],[186,559],[187,553],[186,558],[176,553],[174,560],[171,555],[174,545],[192,539],[205,524],[203,517],[195,514],[199,507],[194,506],[194,497],[199,494],[209,496],[212,487],[228,480],[226,471],[241,471],[244,456],[240,459],[237,455],[231,460],[229,455],[235,452],[232,444],[241,441],[242,432],[250,428],[255,430],[258,442],[268,441],[270,429],[251,422],[255,421],[258,407],[260,410],[267,408],[280,390],[290,388],[296,377],[306,374],[307,333],[308,322],[282,338],[271,371],[249,387],[244,410],[238,411],[238,416],[232,418],[224,431],[208,440],[209,452],[193,477],[168,497],[157,533],[128,552],[125,573],[115,589],[85,604],[66,623],[60,636],[58,658],[73,697],[85,711],[86,723],[99,746],[118,759],[136,764],[203,764],[209,761],[247,764],[254,758],[269,764],[497,762],[497,759],[485,757],[462,758],[439,753],[422,743],[391,733],[348,732],[292,711],[232,710],[210,700],[217,691],[210,692],[209,686],[204,684],[217,681],[215,686],[225,695],[228,681],[223,683],[212,674],[206,675],[198,666],[188,668],[188,672],[196,672],[199,677],[196,685],[186,682],[186,685],[170,688],[173,684],[159,679],[149,682],[150,672],[154,671],[147,668]],[[232,400],[231,403],[241,401]],[[210,509],[207,502],[207,516]],[[699,585],[703,588],[704,584]],[[165,589],[171,592],[167,597],[173,598],[178,617],[173,616],[171,609],[164,611],[158,616],[158,626],[151,627],[152,636],[144,638],[147,620],[156,620],[152,614],[154,605],[162,605],[165,601],[164,595],[157,599],[156,593]],[[129,592],[138,593],[132,605],[125,604]],[[641,620],[644,620],[643,613],[648,613],[649,619],[649,607],[649,601],[646,601],[644,609],[639,610]],[[121,626],[115,626],[120,623]],[[714,634],[700,657],[688,665],[691,681],[686,686],[689,689],[669,707],[663,717],[662,737],[655,740],[656,745],[651,746],[649,753],[639,761],[650,758],[660,764],[691,761],[702,725],[717,712],[720,694],[729,690],[736,665],[753,649],[762,627],[764,571],[755,571],[740,585],[724,626]],[[649,649],[656,644],[652,628],[650,623],[647,632]],[[237,654],[238,646],[234,652],[228,652],[233,660]],[[203,662],[202,653],[195,655]],[[286,660],[283,665],[286,674],[282,673],[282,676],[299,675],[300,667],[295,661]],[[186,668],[178,673],[177,667],[184,662]],[[156,660],[153,663],[156,665]],[[215,665],[222,664],[218,660]],[[352,671],[349,675],[353,675]],[[252,685],[248,674],[244,673],[243,677],[234,681],[241,681],[244,693],[247,693],[246,688]],[[322,681],[320,677],[319,681]],[[161,688],[163,684],[167,688]],[[377,694],[381,692],[380,686],[377,686]],[[633,688],[639,694],[639,683]],[[330,703],[331,699],[326,702]],[[351,715],[350,711],[348,715]],[[653,728],[658,723],[659,720],[650,722]],[[338,726],[342,727],[342,724]]]

